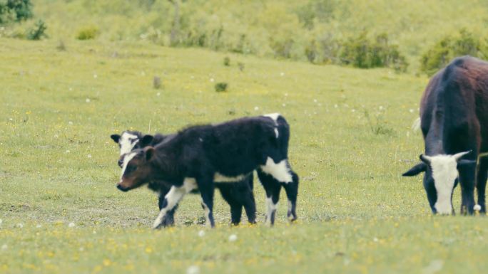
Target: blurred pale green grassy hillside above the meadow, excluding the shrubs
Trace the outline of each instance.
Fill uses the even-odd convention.
[[[182,1],[172,42],[175,6],[170,1],[33,2],[34,20],[46,21],[54,41],[70,41],[88,28],[98,29],[97,39],[103,41],[147,40],[295,60],[307,60],[312,51],[321,63],[334,62],[347,38],[367,31],[371,38],[387,33],[412,72],[417,72],[419,56],[444,36],[462,28],[486,36],[488,20],[488,5],[475,0]]]

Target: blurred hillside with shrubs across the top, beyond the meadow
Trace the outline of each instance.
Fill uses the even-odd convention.
[[[0,37],[161,46],[431,75],[485,58],[487,1],[0,0]]]

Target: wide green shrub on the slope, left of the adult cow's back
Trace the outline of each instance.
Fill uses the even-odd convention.
[[[341,63],[357,68],[388,67],[405,71],[408,66],[405,56],[398,51],[398,46],[390,45],[385,33],[376,36],[374,41],[367,38],[365,31],[349,38],[342,43],[339,58]]]

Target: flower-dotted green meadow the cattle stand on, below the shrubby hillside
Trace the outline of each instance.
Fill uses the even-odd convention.
[[[487,218],[431,216],[420,176],[400,176],[423,150],[410,126],[427,78],[147,43],[56,46],[0,38],[0,272],[486,270]],[[216,93],[218,82],[228,92]],[[257,179],[258,225],[229,227],[217,194],[213,230],[198,224],[198,196],[185,196],[175,228],[153,231],[156,196],[115,188],[114,132],[168,133],[268,112],[290,122],[298,223],[285,221],[282,200],[277,225],[263,225]],[[459,208],[459,189],[454,200]]]

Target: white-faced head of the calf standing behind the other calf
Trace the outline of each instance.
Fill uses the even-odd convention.
[[[110,135],[113,142],[118,144],[120,148],[120,158],[118,159],[118,166],[122,167],[123,157],[133,151],[148,146],[153,141],[152,135],[141,135],[141,132],[124,131],[121,135]]]

